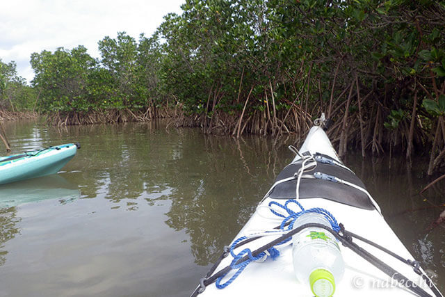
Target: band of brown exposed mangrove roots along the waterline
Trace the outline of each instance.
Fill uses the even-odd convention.
[[[300,105],[289,109],[254,109],[254,111],[230,112],[208,106],[209,111],[187,113],[183,104],[175,106],[149,106],[145,109],[95,109],[85,113],[55,111],[44,114],[35,112],[0,111],[0,120],[39,119],[45,125],[97,125],[120,122],[148,122],[166,119],[172,127],[199,127],[204,134],[234,136],[253,134],[273,136],[275,139],[291,135],[303,138],[322,110],[305,111]],[[379,113],[378,118],[362,120],[355,115],[340,113],[327,119],[327,135],[332,139],[340,156],[361,152],[369,156],[405,156],[409,163],[414,156],[429,157],[428,175],[444,171],[445,149],[440,147],[444,120],[439,117],[436,126],[428,119],[418,117],[416,122],[401,118],[400,129],[391,129],[385,118],[391,115]],[[414,124],[414,125],[413,125]],[[442,124],[442,125],[441,125]],[[416,127],[416,133],[414,128]],[[434,131],[436,131],[434,133]],[[445,131],[445,130],[444,130]],[[445,138],[445,137],[444,137]],[[435,151],[435,154],[430,152]]]

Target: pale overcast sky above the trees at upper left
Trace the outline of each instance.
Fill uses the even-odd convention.
[[[28,82],[33,52],[83,45],[98,58],[97,42],[125,31],[138,40],[150,36],[168,13],[181,13],[185,0],[3,0],[0,6],[0,58],[15,61]]]

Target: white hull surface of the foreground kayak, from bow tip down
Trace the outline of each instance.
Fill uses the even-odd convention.
[[[332,166],[346,168],[346,166],[341,163],[337,152],[335,152],[329,138],[327,138],[321,127],[312,127],[298,152],[301,156],[297,155],[290,165],[298,162],[301,163],[304,154],[323,154],[337,162],[337,164]],[[317,166],[316,168],[321,168],[321,166]],[[346,169],[349,170],[348,168]],[[277,186],[279,182],[280,181],[275,182],[274,186]],[[259,203],[254,214],[252,214],[251,218],[237,234],[234,241],[242,236],[252,236],[252,234],[257,234],[258,232],[274,230],[275,227],[279,226],[283,218],[275,216],[275,214],[270,211],[270,202],[284,204],[287,199],[295,199],[295,191],[294,187],[292,196],[289,196],[289,198],[286,199],[278,199],[270,197],[270,194],[273,193],[271,188],[265,198]],[[371,196],[369,197],[369,200],[373,207],[368,209],[316,196],[302,198],[299,202],[305,209],[317,207],[326,209],[339,223],[344,225],[348,232],[353,232],[369,239],[370,241],[395,252],[403,259],[413,260],[414,258],[410,252],[403,245],[401,240],[398,239],[398,236],[391,230],[391,227],[389,227],[385,218],[382,216],[378,204],[376,204]],[[289,208],[295,212],[300,211],[297,205],[293,203],[289,204]],[[251,241],[244,246],[234,249],[234,254],[238,255],[238,253],[245,248],[254,252],[254,250],[257,250],[276,238],[277,237],[274,236],[264,236],[263,238]],[[232,241],[232,243],[234,241]],[[435,296],[426,282],[419,274],[414,272],[414,269],[411,266],[404,264],[368,243],[363,243],[356,239],[354,239],[354,242],[391,268],[394,268],[395,271],[398,271],[398,273],[401,273],[401,275],[405,276],[407,279],[412,280],[414,286],[421,287],[421,289],[431,296]],[[263,262],[250,262],[250,264],[248,264],[234,280],[231,280],[231,278],[235,275],[237,270],[232,269],[227,273],[227,275],[219,280],[219,284],[225,284],[229,281],[229,285],[224,289],[218,289],[215,284],[208,284],[204,291],[202,291],[202,286],[201,290],[199,290],[200,286],[198,286],[195,292],[202,291],[199,296],[204,297],[279,295],[314,296],[309,286],[300,283],[296,278],[293,267],[292,245],[275,246],[275,248],[280,251],[280,255],[275,259],[270,259],[270,257],[268,257]],[[340,249],[345,262],[345,273],[341,280],[335,281],[336,290],[334,296],[416,296],[410,289],[407,289],[404,284],[398,282],[396,278],[383,273],[374,264],[359,256],[353,250],[341,246],[341,244]],[[218,264],[212,275],[215,275],[218,271],[234,264],[232,263],[233,261],[234,257],[229,254],[220,262],[220,264]],[[310,259],[308,259],[308,261],[310,261]],[[422,268],[420,268],[420,270],[423,271]],[[196,296],[195,292],[192,296]]]

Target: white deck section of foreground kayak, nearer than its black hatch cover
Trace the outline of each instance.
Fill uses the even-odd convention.
[[[261,205],[268,205],[271,201],[282,203],[280,200],[268,198]],[[385,219],[377,211],[365,209],[353,209],[351,211],[351,207],[346,204],[339,204],[321,198],[301,200],[300,202],[305,209],[323,206],[337,218],[338,222],[345,225],[346,230],[364,236],[366,239],[389,248],[389,250],[396,250],[397,254],[405,259],[412,259],[410,252],[398,240],[396,234],[388,227]],[[280,221],[274,220],[273,214],[267,214],[266,211],[267,209],[265,208],[257,209],[236,238],[259,230],[271,230],[280,225]],[[261,212],[261,215],[259,212]],[[344,215],[342,216],[341,214]],[[248,244],[235,251],[239,252],[246,247],[250,248],[250,250],[255,250],[266,243],[266,241],[270,241],[270,239]],[[358,244],[383,262],[389,264],[389,266],[395,268],[396,271],[400,271],[407,278],[419,280],[419,275],[414,273],[412,268],[407,265],[366,243],[358,242]],[[385,273],[366,262],[352,250],[341,246],[341,253],[346,268],[343,280],[337,284],[335,296],[375,296],[376,294],[382,294],[382,296],[412,296],[412,292],[401,289],[400,285],[394,280],[391,281],[391,278],[388,278]],[[205,293],[209,294],[209,296],[236,296],[241,294],[268,296],[268,294],[284,294],[286,292],[289,294],[290,291],[293,291],[298,292],[298,296],[313,296],[310,289],[300,284],[296,279],[291,259],[292,247],[287,246],[280,249],[280,257],[277,257],[275,260],[266,259],[263,263],[250,263],[243,273],[225,289],[216,289],[214,285],[211,285],[207,287]],[[231,261],[232,257],[225,258],[216,271],[229,265]],[[223,282],[229,278],[230,275],[227,275]],[[250,285],[246,286],[246,284]],[[422,287],[427,289],[426,284]],[[204,294],[203,296],[207,295]]]

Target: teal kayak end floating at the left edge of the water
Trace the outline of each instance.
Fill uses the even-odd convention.
[[[79,143],[0,157],[0,184],[56,174],[76,154]]]

